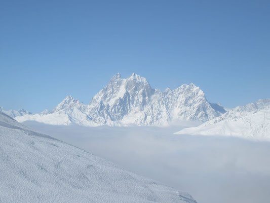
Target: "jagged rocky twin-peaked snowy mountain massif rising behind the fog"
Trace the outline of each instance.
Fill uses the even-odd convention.
[[[220,105],[209,103],[204,92],[192,83],[161,91],[152,89],[139,75],[123,79],[117,74],[89,105],[67,96],[50,112],[19,116],[16,120],[53,125],[168,126],[175,121],[205,122],[225,112]]]

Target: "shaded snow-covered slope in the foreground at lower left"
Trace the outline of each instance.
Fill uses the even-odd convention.
[[[0,202],[196,202],[0,112]]]

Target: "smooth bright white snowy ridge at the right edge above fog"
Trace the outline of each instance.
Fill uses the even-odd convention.
[[[176,134],[225,135],[270,140],[270,99],[239,106],[220,117]]]

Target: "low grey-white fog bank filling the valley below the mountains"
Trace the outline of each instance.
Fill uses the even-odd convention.
[[[24,124],[187,191],[198,203],[269,201],[270,142],[172,134],[179,127]]]

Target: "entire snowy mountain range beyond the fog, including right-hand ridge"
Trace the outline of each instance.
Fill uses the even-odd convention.
[[[137,74],[127,79],[116,74],[89,104],[66,96],[53,110],[40,114],[31,114],[23,109],[5,111],[0,107],[0,111],[19,122],[83,126],[186,126],[186,121],[196,121],[202,124],[177,133],[260,139],[270,138],[269,109],[270,99],[260,99],[227,110],[220,104],[210,103],[205,93],[193,83],[161,91],[153,89],[145,78]]]

